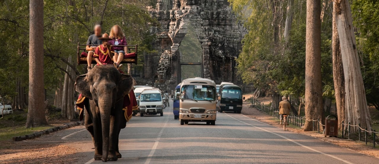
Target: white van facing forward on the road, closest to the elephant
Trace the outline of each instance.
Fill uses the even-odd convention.
[[[160,113],[163,116],[163,100],[158,88],[144,89],[139,96],[139,115]]]

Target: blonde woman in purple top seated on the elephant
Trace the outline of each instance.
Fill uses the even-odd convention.
[[[124,32],[122,32],[122,29],[119,25],[114,25],[111,28],[110,34],[109,34],[110,40],[108,43],[110,45],[128,45],[125,39]],[[127,52],[128,48],[126,46],[124,47],[118,47],[114,46],[114,56],[113,56],[113,65],[117,68],[120,69],[122,64],[120,62],[122,59],[124,59],[125,52]]]

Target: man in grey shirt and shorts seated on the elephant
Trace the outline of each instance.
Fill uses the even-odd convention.
[[[94,34],[88,37],[87,44],[93,44],[93,45],[100,45],[103,42],[99,39],[101,37],[101,26],[100,25],[95,25],[94,27]],[[97,46],[86,46],[86,50],[88,51],[87,55],[87,70],[92,69],[92,55],[94,55],[94,52],[96,50]]]

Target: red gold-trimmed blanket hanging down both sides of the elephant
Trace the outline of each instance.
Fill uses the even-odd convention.
[[[83,116],[84,116],[84,100],[85,100],[86,97],[83,97],[83,95],[79,95],[78,97],[78,100],[76,101],[76,105],[78,106],[78,110],[80,110],[80,114],[79,114],[79,119],[80,120],[83,120]],[[122,110],[124,110],[124,117],[125,117],[125,120],[127,122],[129,122],[129,120],[132,118],[132,114],[133,114],[133,110],[137,110],[138,109],[138,105],[137,105],[137,100],[136,100],[136,96],[133,92],[133,90],[131,90],[129,92],[128,95],[125,95],[124,96],[124,105],[123,105],[124,108],[122,108]]]

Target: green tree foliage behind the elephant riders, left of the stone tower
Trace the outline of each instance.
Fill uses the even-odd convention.
[[[120,25],[129,45],[138,44],[138,66],[143,66],[143,52],[152,52],[150,41],[154,35],[149,27],[157,22],[146,11],[152,0],[104,1],[44,1],[44,85],[54,90],[64,79],[67,63],[76,68],[77,43],[85,44],[96,23],[102,33],[109,33],[113,25]],[[4,0],[0,6],[0,95],[16,95],[17,80],[28,87],[29,1]],[[71,61],[69,62],[69,58]],[[75,78],[75,77],[72,77]]]

